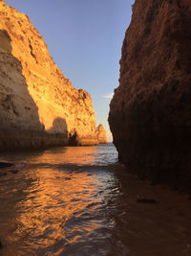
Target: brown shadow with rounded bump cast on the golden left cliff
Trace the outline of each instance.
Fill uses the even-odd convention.
[[[22,63],[11,50],[11,36],[0,30],[0,151],[66,144],[68,132],[64,119],[56,118],[48,131],[40,123],[38,107],[22,74]]]

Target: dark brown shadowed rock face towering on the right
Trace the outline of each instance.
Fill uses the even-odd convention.
[[[109,123],[119,159],[156,182],[191,187],[191,2],[137,0]]]

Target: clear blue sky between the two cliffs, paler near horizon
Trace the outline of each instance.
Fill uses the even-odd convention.
[[[118,86],[119,59],[134,0],[5,0],[27,14],[50,55],[77,89],[88,91],[108,141],[109,104]]]

